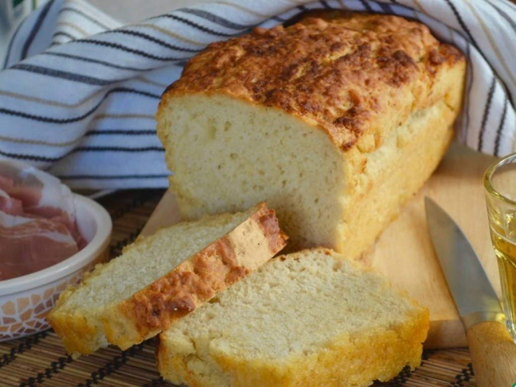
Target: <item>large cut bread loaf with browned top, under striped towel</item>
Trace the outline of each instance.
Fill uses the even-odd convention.
[[[164,93],[157,133],[185,219],[267,200],[290,251],[357,257],[445,153],[465,60],[420,23],[319,16],[209,45]]]

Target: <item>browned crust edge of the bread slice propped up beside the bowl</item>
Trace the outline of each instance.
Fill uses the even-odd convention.
[[[256,233],[259,235],[253,237]],[[256,212],[234,231],[108,308],[104,315],[108,342],[126,349],[163,331],[265,263],[286,245],[286,239],[275,212],[260,203]],[[267,246],[256,246],[262,243]]]

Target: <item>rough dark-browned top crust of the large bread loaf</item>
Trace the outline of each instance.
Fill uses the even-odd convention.
[[[348,150],[364,133],[382,133],[386,115],[403,122],[442,98],[431,93],[435,78],[464,61],[420,23],[338,11],[318,16],[326,20],[255,28],[209,45],[188,62],[162,103],[182,93],[226,93],[283,109]]]

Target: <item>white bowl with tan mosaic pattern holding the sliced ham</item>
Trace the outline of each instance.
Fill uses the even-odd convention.
[[[111,218],[91,199],[74,195],[77,226],[88,244],[65,261],[0,281],[0,342],[49,328],[45,317],[59,294],[108,255]]]

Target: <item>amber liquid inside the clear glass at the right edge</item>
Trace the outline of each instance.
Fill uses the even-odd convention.
[[[498,232],[492,226],[490,230],[498,259],[507,329],[516,343],[516,241],[508,238],[503,232]]]

